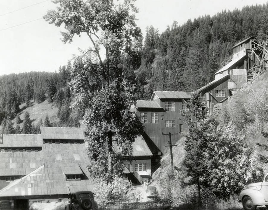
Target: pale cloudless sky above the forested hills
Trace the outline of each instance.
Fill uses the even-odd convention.
[[[242,9],[245,5],[265,4],[267,0],[136,0],[137,25],[145,34],[146,26],[158,28],[160,34],[177,21],[184,24],[203,15],[222,10]],[[54,9],[51,0],[0,0],[0,75],[29,71],[55,72],[73,55],[91,46],[86,36],[74,37],[64,44],[54,24],[42,19]]]

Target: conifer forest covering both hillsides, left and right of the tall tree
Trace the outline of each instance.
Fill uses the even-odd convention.
[[[136,99],[148,100],[154,90],[194,91],[214,79],[214,73],[232,54],[235,43],[252,35],[258,39],[267,38],[267,5],[222,11],[213,16],[188,20],[183,25],[174,21],[162,34],[153,26],[148,26],[144,45],[137,40],[134,43],[135,53],[131,57],[122,57],[119,66],[136,84]],[[18,113],[31,107],[34,101],[42,103],[45,100],[58,108],[59,120],[53,126],[77,126],[83,114],[70,108],[73,96],[68,82],[72,79],[70,72],[73,68],[77,67],[70,61],[55,73],[0,76],[2,132],[14,133],[16,122],[22,123],[19,119],[14,120],[16,116],[18,118]],[[24,103],[20,109],[19,105]],[[5,129],[7,127],[13,129],[10,131]],[[38,128],[24,131],[20,126],[17,132],[34,133],[36,130]]]

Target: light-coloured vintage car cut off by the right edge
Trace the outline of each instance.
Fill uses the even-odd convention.
[[[257,206],[268,208],[268,173],[262,182],[247,185],[247,189],[240,192],[240,200],[245,210],[255,210]]]

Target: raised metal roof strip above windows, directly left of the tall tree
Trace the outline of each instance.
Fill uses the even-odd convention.
[[[82,128],[40,127],[43,139],[84,139]]]

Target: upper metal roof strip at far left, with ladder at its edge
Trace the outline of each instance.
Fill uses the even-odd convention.
[[[43,140],[40,134],[3,134],[0,147],[40,147]]]

